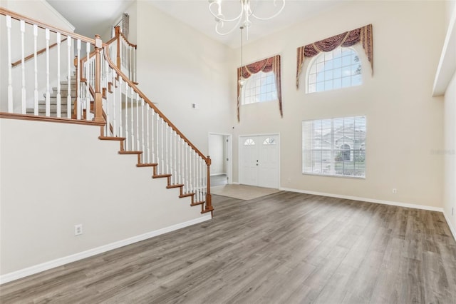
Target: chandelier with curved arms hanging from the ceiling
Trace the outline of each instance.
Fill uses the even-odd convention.
[[[281,6],[279,8],[279,11],[277,11],[275,14],[269,17],[259,17],[255,14],[255,6],[251,6],[252,2],[258,2],[258,1],[250,1],[250,0],[239,0],[241,4],[241,8],[239,11],[239,14],[233,18],[227,18],[222,14],[222,0],[209,0],[209,11],[211,12],[212,16],[214,16],[215,21],[217,24],[215,24],[215,31],[219,35],[228,35],[234,31],[234,29],[237,29],[240,25],[240,27],[247,29],[247,35],[249,33],[248,29],[250,24],[252,24],[252,21],[250,19],[253,17],[254,19],[258,20],[269,20],[273,19],[275,16],[279,15],[281,11],[285,7],[285,0],[274,0],[274,1],[262,1],[263,3],[269,2],[274,4],[274,6],[277,6],[277,2],[281,3]],[[234,24],[234,26],[229,29],[228,31],[224,31],[224,25],[226,23],[229,24]],[[248,37],[247,37],[248,39]]]

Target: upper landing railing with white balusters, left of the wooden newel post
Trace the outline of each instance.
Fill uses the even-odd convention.
[[[90,103],[78,98],[81,78],[73,58],[102,49],[99,38],[58,29],[4,8],[0,8],[0,31],[5,51],[0,57],[1,112],[63,119],[72,118],[73,108],[90,112]],[[97,108],[92,112],[93,116],[73,119],[103,123],[102,113]]]

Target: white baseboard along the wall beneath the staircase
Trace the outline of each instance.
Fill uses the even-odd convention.
[[[153,238],[154,236],[157,236],[157,235],[162,235],[164,233],[168,233],[168,232],[171,232],[171,231],[174,231],[174,230],[178,230],[180,228],[185,228],[187,226],[192,226],[192,225],[195,225],[197,223],[202,223],[204,221],[210,220],[211,218],[212,217],[211,217],[211,215],[209,213],[206,216],[202,216],[200,218],[195,218],[194,220],[191,220],[191,221],[186,221],[184,223],[178,223],[176,225],[172,225],[172,226],[169,226],[169,227],[165,227],[165,228],[161,228],[161,229],[158,229],[158,230],[150,231],[148,233],[144,233],[144,234],[141,234],[141,235],[136,235],[136,236],[133,236],[131,238],[126,238],[125,240],[119,240],[117,242],[110,243],[110,244],[107,244],[107,245],[103,245],[103,246],[100,246],[100,247],[97,247],[97,248],[89,249],[89,250],[83,251],[81,253],[75,253],[73,255],[68,255],[68,256],[63,257],[63,258],[57,258],[56,260],[50,260],[48,262],[41,263],[41,264],[38,264],[38,265],[33,265],[31,267],[24,268],[24,269],[21,269],[21,270],[17,270],[17,271],[14,271],[12,273],[6,273],[4,275],[0,275],[0,285],[4,284],[4,283],[11,282],[13,280],[24,278],[24,277],[26,277],[28,275],[34,275],[36,273],[41,273],[42,271],[49,270],[51,268],[56,268],[56,267],[61,266],[61,265],[65,265],[65,264],[68,264],[68,263],[76,262],[76,260],[82,260],[83,258],[89,258],[90,256],[98,255],[100,253],[105,253],[105,252],[107,252],[109,250],[120,248],[120,247],[123,247],[125,245],[130,245],[130,244],[133,244],[133,243],[137,243],[137,242],[140,242],[141,240],[147,240],[147,238]]]

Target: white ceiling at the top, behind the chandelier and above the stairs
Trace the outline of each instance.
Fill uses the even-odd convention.
[[[58,12],[76,27],[78,34],[94,36],[104,34],[109,26],[115,24],[125,9],[135,0],[48,0]],[[216,22],[209,13],[207,0],[140,0],[148,1],[153,6],[174,16],[176,19],[201,31],[203,34],[226,44],[232,48],[240,45],[239,31],[235,30],[227,36],[220,36],[215,32]],[[252,1],[252,6],[257,5],[256,13],[266,17],[274,11],[273,0]],[[280,0],[276,0],[279,3]],[[249,41],[285,29],[314,16],[321,11],[332,9],[344,0],[286,0],[284,11],[269,21],[252,19],[249,26]],[[225,17],[237,16],[239,12],[239,0],[224,0],[223,13]],[[262,13],[262,14],[261,14]],[[131,22],[131,21],[130,21]],[[153,21],[152,21],[153,22]],[[234,24],[226,24],[231,29]],[[245,43],[245,42],[244,42]]]

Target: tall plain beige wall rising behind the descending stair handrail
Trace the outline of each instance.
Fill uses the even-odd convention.
[[[208,132],[231,131],[231,49],[147,1],[136,6],[139,87],[207,154]]]

